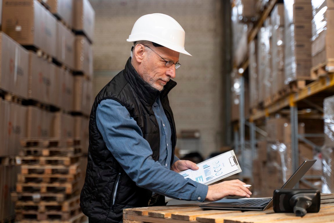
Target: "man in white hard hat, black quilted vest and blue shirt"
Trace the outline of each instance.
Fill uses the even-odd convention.
[[[215,201],[249,197],[239,180],[206,186],[184,179],[198,167],[174,155],[176,130],[168,93],[185,32],[172,17],[144,15],[127,41],[125,69],[97,95],[90,117],[88,165],[80,206],[90,222],[121,222],[124,208],[165,205],[164,196]]]

